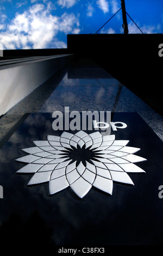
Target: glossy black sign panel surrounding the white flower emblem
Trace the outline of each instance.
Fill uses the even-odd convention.
[[[112,196],[92,187],[83,199],[70,188],[49,196],[48,185],[27,186],[30,174],[16,174],[25,164],[15,159],[26,155],[32,141],[46,140],[54,131],[52,113],[29,114],[0,151],[0,235],[3,244],[15,245],[162,245],[163,185],[162,141],[137,113],[112,113],[111,121],[127,124],[112,131],[116,139],[140,148],[136,163],[146,173],[131,173],[135,186],[114,182]],[[77,131],[69,131],[76,133]],[[87,131],[91,133],[92,131]]]

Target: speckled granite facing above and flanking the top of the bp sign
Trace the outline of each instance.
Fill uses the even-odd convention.
[[[66,66],[0,118],[0,139],[24,113],[64,111],[137,112],[163,141],[163,119],[90,59]]]

